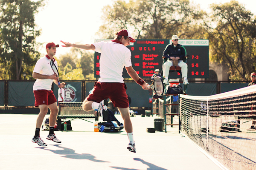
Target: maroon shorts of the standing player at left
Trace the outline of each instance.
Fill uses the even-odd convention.
[[[57,102],[53,91],[37,90],[33,92],[35,96],[35,107],[38,107],[39,105],[51,105],[52,103]]]

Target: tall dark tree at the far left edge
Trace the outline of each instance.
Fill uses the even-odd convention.
[[[40,53],[35,50],[35,13],[44,0],[1,0],[0,1],[0,61],[6,68],[9,79],[21,79],[21,74],[32,75],[32,68]]]

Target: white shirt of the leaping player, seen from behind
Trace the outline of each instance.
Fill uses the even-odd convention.
[[[93,43],[95,50],[101,53],[99,59],[98,82],[124,82],[123,68],[131,66],[131,51],[118,40]]]

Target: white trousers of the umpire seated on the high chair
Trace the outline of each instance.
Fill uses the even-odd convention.
[[[172,66],[172,60],[169,60],[169,59],[163,64],[163,77],[168,79],[171,66]],[[186,64],[186,62],[179,60],[178,66],[180,66],[181,68],[182,77],[188,77],[188,65]]]

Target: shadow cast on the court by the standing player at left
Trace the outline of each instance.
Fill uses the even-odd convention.
[[[94,161],[94,162],[108,162],[108,161],[97,160],[97,159],[95,159],[96,158],[95,156],[93,156],[89,153],[82,153],[82,154],[76,153],[75,150],[67,148],[67,147],[62,147],[59,144],[53,144],[52,146],[61,148],[62,150],[51,150],[51,149],[47,149],[47,147],[36,147],[36,148],[43,149],[43,150],[49,150],[52,153],[61,155],[61,157],[64,157],[64,158],[88,159],[88,160]]]

